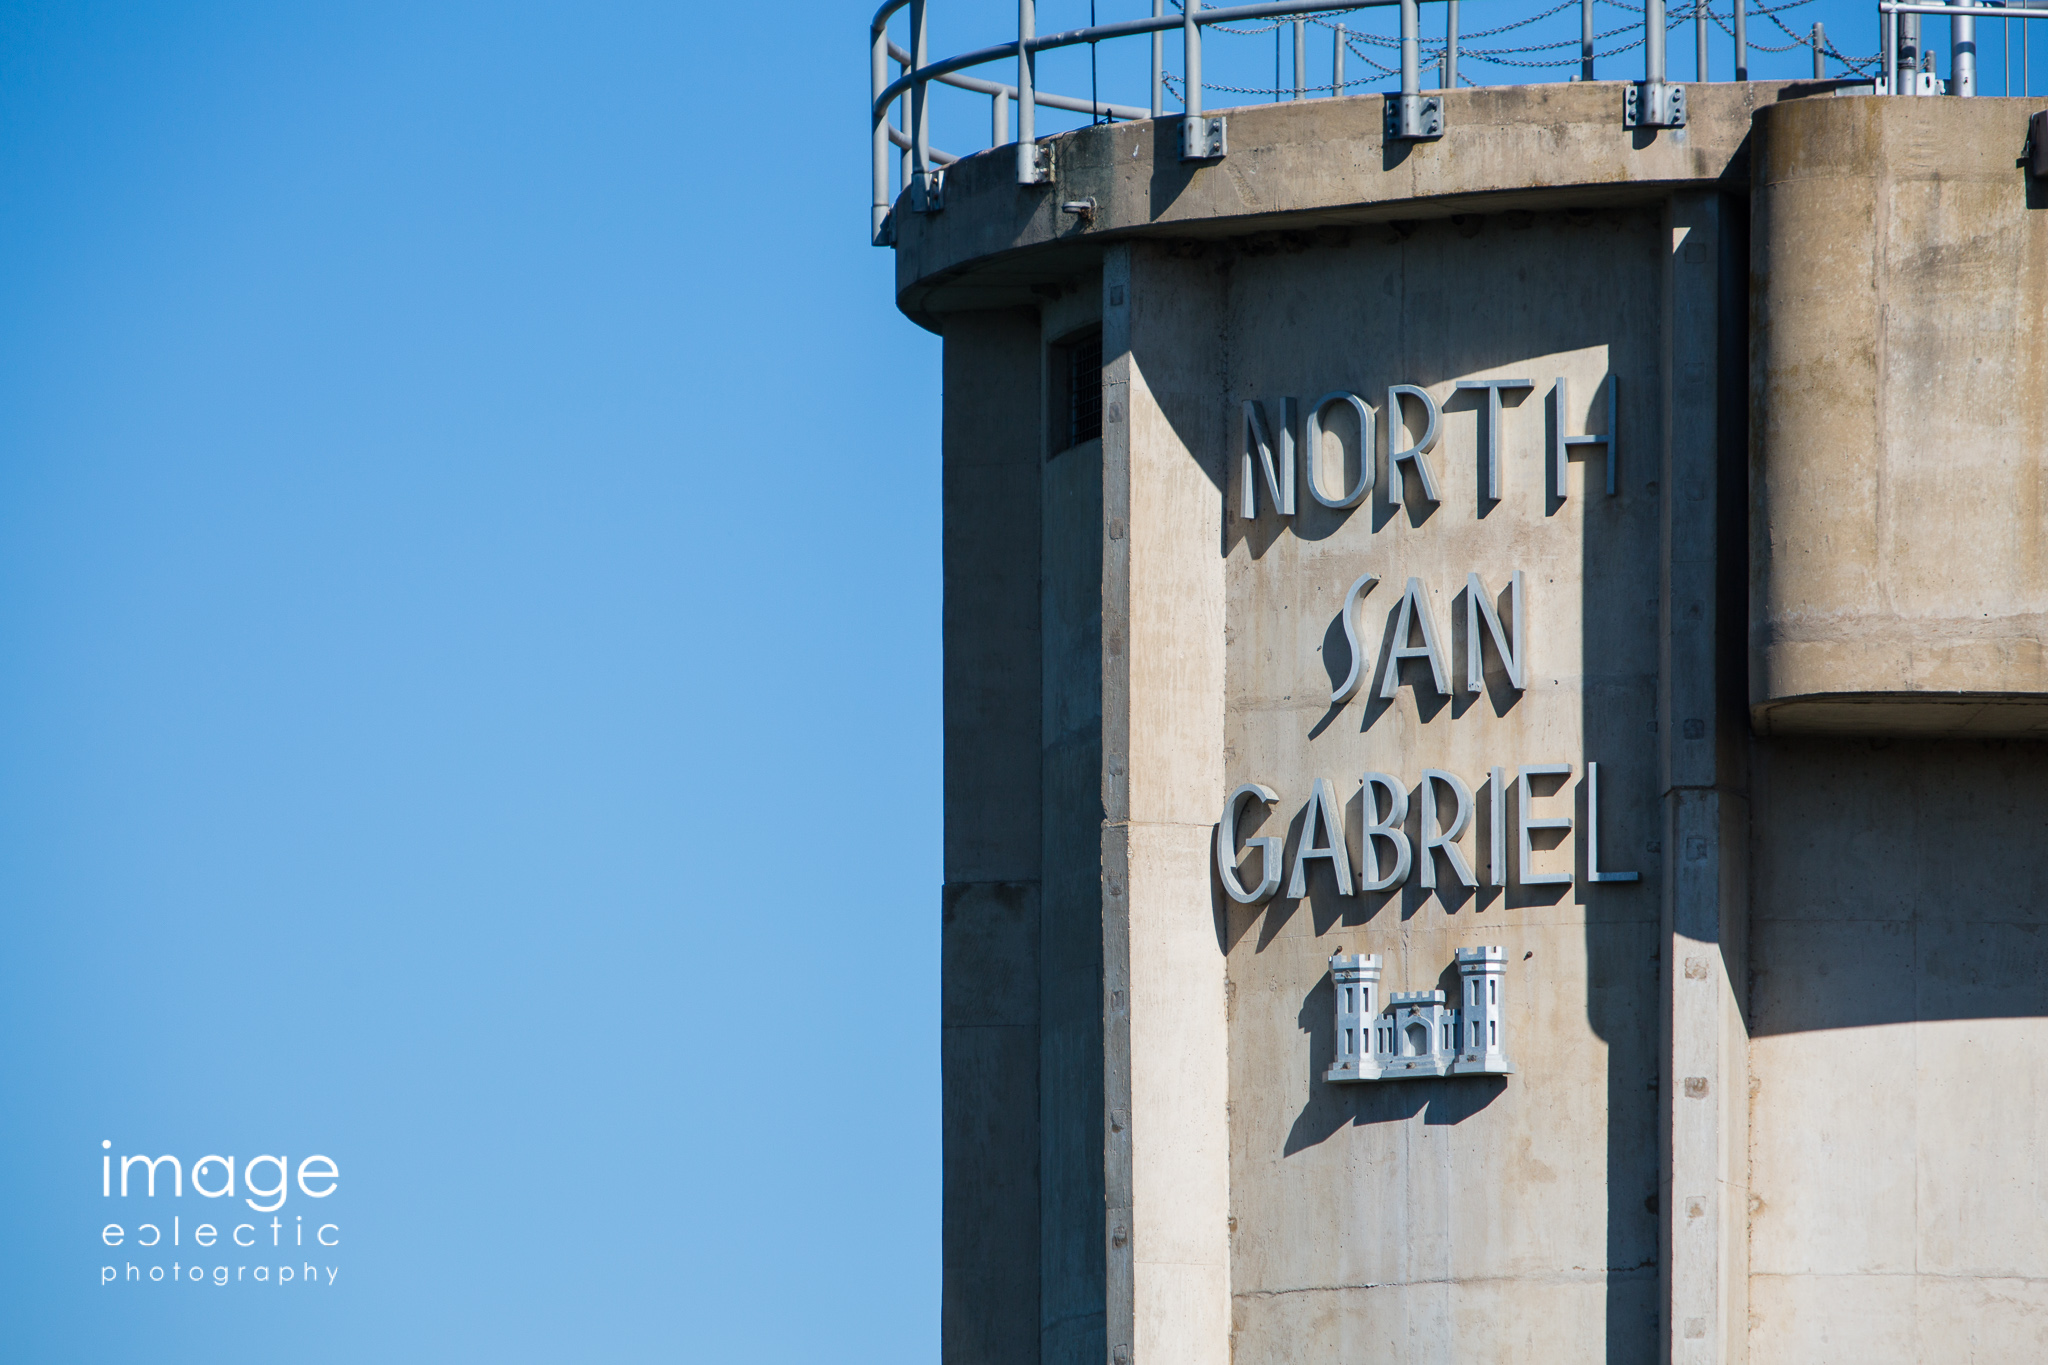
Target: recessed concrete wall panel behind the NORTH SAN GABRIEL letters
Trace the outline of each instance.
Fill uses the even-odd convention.
[[[1642,872],[1634,884],[1516,882],[1503,892],[1452,886],[1440,868],[1434,892],[1411,878],[1393,892],[1339,896],[1317,870],[1305,898],[1282,888],[1266,907],[1231,909],[1241,1363],[1655,1353],[1665,227],[1659,211],[1620,209],[1516,223],[1360,231],[1346,246],[1243,254],[1227,270],[1221,254],[1206,258],[1227,280],[1227,385],[1210,397],[1210,422],[1229,448],[1245,399],[1278,420],[1282,395],[1350,389],[1380,405],[1386,385],[1415,383],[1446,409],[1430,456],[1442,503],[1409,477],[1407,497],[1391,505],[1382,469],[1376,493],[1352,512],[1300,491],[1300,514],[1282,520],[1260,489],[1260,518],[1245,522],[1237,460],[1212,493],[1229,573],[1219,796],[1239,782],[1276,788],[1282,800],[1264,833],[1288,835],[1292,857],[1303,804],[1315,778],[1327,778],[1346,800],[1358,866],[1360,774],[1395,774],[1411,788],[1415,837],[1421,769],[1446,769],[1475,790],[1481,819],[1458,843],[1485,878],[1491,769],[1571,763],[1571,782],[1542,804],[1583,829],[1593,759],[1608,866]],[[1610,372],[1620,383],[1620,491],[1606,495],[1595,456],[1569,467],[1559,503],[1546,491],[1546,395],[1565,377],[1571,430],[1604,430]],[[1489,375],[1538,385],[1511,395],[1503,413],[1499,501],[1483,495],[1483,401],[1456,389]],[[1710,561],[1712,534],[1704,548]],[[1513,692],[1495,665],[1473,696],[1466,575],[1499,593],[1516,569],[1528,591],[1530,686]],[[1360,696],[1333,706],[1350,667],[1337,610],[1366,571],[1382,577],[1362,612],[1374,667]],[[1448,698],[1421,665],[1403,665],[1393,700],[1378,696],[1409,577],[1423,583],[1452,653]],[[1583,878],[1585,845],[1565,841],[1536,862]],[[1335,1046],[1333,952],[1380,954],[1384,988],[1397,990],[1438,986],[1454,950],[1473,943],[1497,943],[1511,960],[1518,1076],[1323,1081]]]

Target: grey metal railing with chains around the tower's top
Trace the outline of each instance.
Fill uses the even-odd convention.
[[[1169,2],[1176,12],[1169,12]],[[1874,92],[1882,94],[1962,94],[1978,92],[1976,82],[1976,18],[2001,18],[2007,33],[2013,18],[2048,18],[2048,0],[1956,0],[1954,4],[1919,4],[1913,0],[1878,0],[1878,20],[1882,31],[1882,53],[1870,57],[1847,57],[1829,41],[1817,23],[1808,33],[1798,33],[1780,18],[1780,12],[1810,4],[1810,0],[1726,0],[1729,8],[1716,12],[1714,0],[1692,0],[1667,10],[1665,0],[1559,0],[1540,12],[1524,18],[1470,33],[1460,41],[1458,0],[1427,0],[1444,6],[1442,39],[1430,39],[1427,53],[1421,39],[1423,0],[1280,0],[1274,4],[1233,4],[1223,8],[1202,8],[1202,0],[1151,0],[1151,14],[1120,23],[1094,25],[1087,29],[1067,29],[1040,35],[1036,31],[1036,0],[1018,0],[1016,37],[991,47],[977,47],[952,57],[932,59],[928,51],[928,10],[930,0],[885,0],[868,25],[870,92],[868,108],[872,129],[872,239],[889,246],[895,239],[891,213],[897,201],[893,192],[891,162],[899,164],[901,188],[909,192],[907,207],[913,213],[936,213],[944,207],[946,166],[961,160],[954,153],[932,145],[932,84],[969,90],[989,98],[989,147],[1004,147],[1012,141],[1010,106],[1016,106],[1016,182],[1047,184],[1053,178],[1049,147],[1036,135],[1036,111],[1059,108],[1081,113],[1096,121],[1118,119],[1159,119],[1169,113],[1182,115],[1180,156],[1190,162],[1210,162],[1227,153],[1227,129],[1219,117],[1204,115],[1204,92],[1264,94],[1274,98],[1309,98],[1311,94],[1341,96],[1348,86],[1360,88],[1378,78],[1399,76],[1399,92],[1389,92],[1386,137],[1389,141],[1425,141],[1442,135],[1442,98],[1421,90],[1423,68],[1436,68],[1438,88],[1477,86],[1481,82],[1462,76],[1460,53],[1468,61],[1483,61],[1511,70],[1577,68],[1573,80],[1593,80],[1597,59],[1618,57],[1636,47],[1642,49],[1642,80],[1626,88],[1622,123],[1630,127],[1683,127],[1686,88],[1667,80],[1665,39],[1671,29],[1692,20],[1696,41],[1694,72],[1704,80],[1708,72],[1710,29],[1720,29],[1733,41],[1735,80],[1749,80],[1749,53],[1782,53],[1796,47],[1812,51],[1815,78],[1827,78],[1827,61],[1833,59],[1843,76],[1866,78]],[[1597,31],[1595,4],[1626,10],[1636,18],[1608,31]],[[1538,20],[1579,8],[1577,41],[1530,43],[1524,47],[1475,47],[1475,39],[1499,39]],[[1358,10],[1399,8],[1399,37],[1372,35],[1350,29],[1341,16]],[[909,47],[895,43],[889,35],[891,20],[907,14]],[[1935,78],[1933,53],[1921,43],[1921,16],[1937,14],[1950,18],[1950,80]],[[1747,20],[1767,18],[1790,41],[1782,45],[1753,43]],[[1202,39],[1204,29],[1221,33],[1245,33],[1235,25],[1274,20],[1268,29],[1276,39],[1284,25],[1292,27],[1294,39],[1294,80],[1292,88],[1276,84],[1272,88],[1217,86],[1202,80]],[[1331,82],[1307,86],[1307,29],[1323,27],[1331,33]],[[1165,35],[1180,31],[1182,74],[1165,70]],[[1038,88],[1036,63],[1040,53],[1108,43],[1114,39],[1151,39],[1151,82],[1149,100],[1139,104],[1116,104],[1090,92],[1087,98],[1053,94]],[[1628,39],[1618,47],[1595,51],[1610,39]],[[2025,51],[2025,25],[2021,23],[2021,45]],[[1569,49],[1577,49],[1571,53]],[[1380,61],[1374,51],[1395,57]],[[1362,61],[1370,72],[1346,80],[1346,55]],[[985,80],[965,76],[969,68],[1014,61],[1016,80]],[[891,76],[891,63],[895,76]],[[1278,55],[1276,55],[1278,65]],[[2007,92],[2011,92],[2011,59],[2007,55]],[[2030,90],[2025,76],[2028,61],[2021,57],[2021,86]],[[1167,111],[1165,100],[1174,96],[1178,111]],[[903,113],[891,115],[895,106],[907,102]],[[901,127],[899,127],[901,121]],[[893,156],[899,149],[901,156]]]

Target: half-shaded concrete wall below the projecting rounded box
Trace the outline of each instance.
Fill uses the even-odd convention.
[[[1759,747],[1753,1365],[2048,1359],[2038,743]]]

